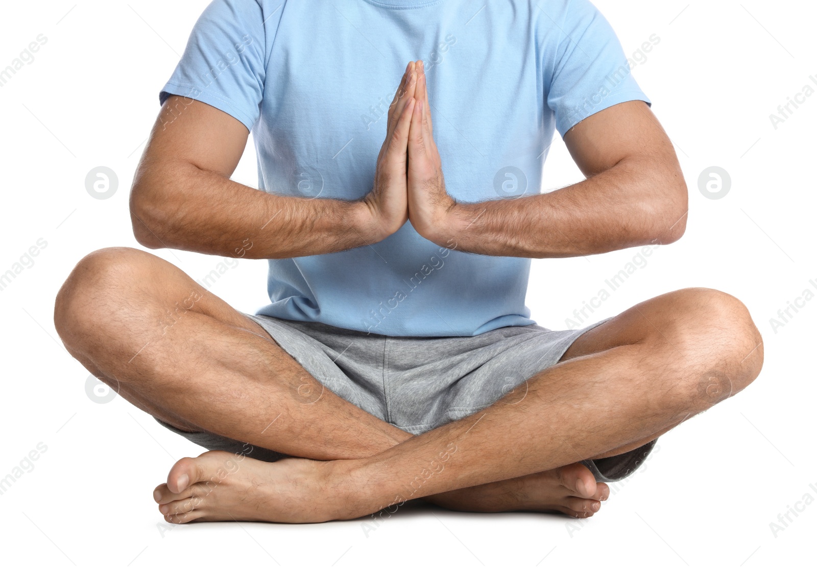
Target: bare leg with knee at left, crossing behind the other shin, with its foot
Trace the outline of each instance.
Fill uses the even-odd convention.
[[[252,319],[148,252],[108,248],[85,257],[60,290],[55,323],[90,372],[181,430],[316,460],[367,457],[412,437],[324,390]],[[568,472],[557,478],[568,482],[559,490],[562,511],[592,515],[608,488],[596,487],[584,466]],[[522,488],[536,486],[542,504],[545,488]],[[508,488],[520,490],[520,482]],[[431,501],[504,510],[511,508],[507,497],[493,485]]]

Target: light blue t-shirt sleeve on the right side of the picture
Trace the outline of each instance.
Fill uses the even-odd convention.
[[[556,115],[560,135],[564,137],[576,123],[624,101],[651,105],[601,12],[589,0],[568,0],[563,7],[563,14],[548,17],[559,42],[546,60],[544,74],[546,81],[551,80],[547,106]]]

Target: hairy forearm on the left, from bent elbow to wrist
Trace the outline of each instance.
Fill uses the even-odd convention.
[[[377,242],[362,202],[268,194],[194,165],[141,165],[134,234],[149,248],[254,259],[312,256]]]

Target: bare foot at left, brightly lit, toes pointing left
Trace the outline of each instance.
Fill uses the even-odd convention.
[[[347,520],[346,498],[329,493],[329,462],[284,458],[261,462],[221,451],[182,458],[154,490],[164,519],[315,523]],[[331,499],[330,499],[331,498]]]

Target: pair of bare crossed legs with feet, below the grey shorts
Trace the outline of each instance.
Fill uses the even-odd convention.
[[[369,483],[426,471],[417,458],[427,464],[430,451],[454,440],[449,470],[435,472],[417,497],[471,511],[592,515],[609,489],[579,460],[649,442],[742,390],[762,363],[760,335],[739,301],[681,290],[580,337],[561,364],[529,381],[520,403],[502,399],[482,422],[466,418],[412,438],[328,391],[303,403],[299,387],[317,381],[257,323],[147,252],[109,248],[83,259],[60,290],[55,322],[86,368],[172,426],[338,461],[239,458],[239,466],[216,452],[182,459],[157,488],[163,513],[177,522],[365,515],[400,497],[393,485],[359,497]],[[275,430],[265,430],[275,418]],[[469,427],[475,420],[480,426]]]

